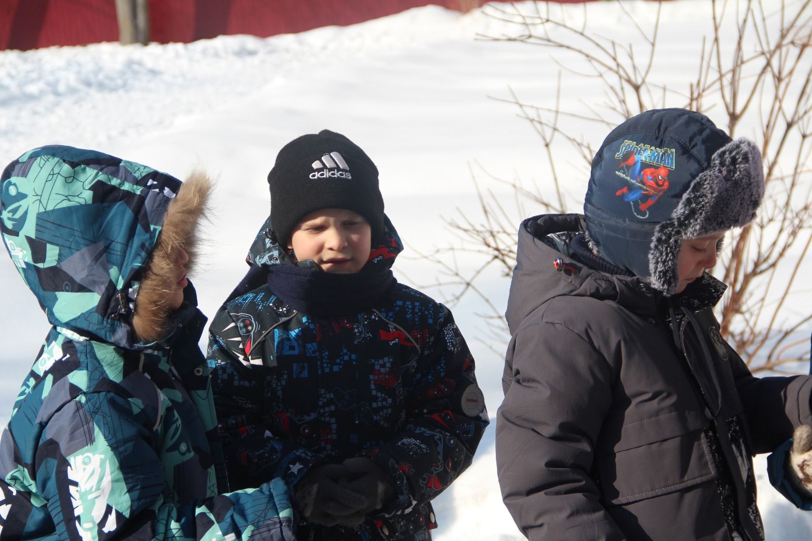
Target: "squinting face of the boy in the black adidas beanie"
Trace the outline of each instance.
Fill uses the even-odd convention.
[[[293,228],[287,247],[296,259],[312,259],[322,271],[351,274],[369,260],[372,231],[361,214],[347,209],[311,212]]]

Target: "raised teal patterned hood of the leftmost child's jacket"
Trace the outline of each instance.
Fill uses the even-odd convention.
[[[181,182],[95,150],[52,145],[11,162],[0,187],[2,238],[48,320],[119,347],[148,348],[136,338],[133,311]]]

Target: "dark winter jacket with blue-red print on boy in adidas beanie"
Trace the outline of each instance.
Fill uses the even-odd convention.
[[[388,268],[394,227],[367,265]],[[268,222],[248,263],[294,265]],[[473,459],[488,419],[474,362],[451,312],[398,283],[358,314],[300,314],[263,283],[227,301],[209,327],[209,364],[227,468],[248,486],[312,465],[366,456],[395,479],[397,498],[358,528],[300,524],[300,539],[430,539],[430,500]]]

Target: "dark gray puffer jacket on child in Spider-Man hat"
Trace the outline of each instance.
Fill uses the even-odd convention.
[[[750,374],[711,276],[668,298],[543,241],[578,231],[580,214],[520,227],[496,427],[516,524],[545,541],[763,539],[750,456],[812,422],[812,377]]]

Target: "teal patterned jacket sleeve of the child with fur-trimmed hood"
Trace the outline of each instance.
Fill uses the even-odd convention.
[[[279,479],[176,501],[183,488],[166,487],[173,465],[156,451],[158,425],[151,417],[137,400],[93,392],[50,418],[37,449],[36,482],[59,539],[294,539],[287,487]]]

